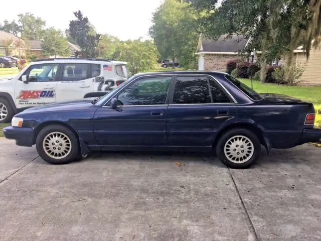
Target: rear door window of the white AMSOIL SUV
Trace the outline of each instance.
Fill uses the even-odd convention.
[[[63,81],[83,80],[90,78],[89,64],[65,64],[63,70]]]

